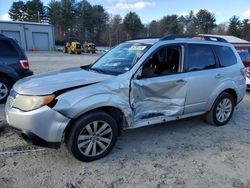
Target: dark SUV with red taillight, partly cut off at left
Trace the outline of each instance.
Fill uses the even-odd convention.
[[[5,102],[12,85],[33,75],[24,51],[14,39],[0,34],[0,103]]]

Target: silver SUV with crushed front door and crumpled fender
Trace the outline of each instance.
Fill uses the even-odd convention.
[[[106,156],[123,129],[204,114],[225,125],[246,90],[246,69],[222,38],[169,36],[124,42],[94,64],[18,81],[5,107],[33,144],[81,161]]]

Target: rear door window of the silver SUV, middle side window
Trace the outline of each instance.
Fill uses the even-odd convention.
[[[189,45],[187,53],[187,71],[205,70],[215,67],[216,61],[210,46]]]

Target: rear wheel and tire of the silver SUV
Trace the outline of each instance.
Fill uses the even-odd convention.
[[[211,110],[206,114],[206,121],[215,126],[227,124],[234,112],[235,102],[229,93],[221,93],[215,100]]]

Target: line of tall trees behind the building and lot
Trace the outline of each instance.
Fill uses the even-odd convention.
[[[233,16],[227,23],[217,25],[215,15],[206,9],[190,11],[186,16],[167,15],[144,25],[135,12],[122,18],[87,0],[51,0],[47,6],[41,0],[19,0],[13,2],[9,15],[14,21],[52,24],[57,44],[78,40],[114,46],[134,38],[198,33],[227,34],[250,40],[248,19]]]

